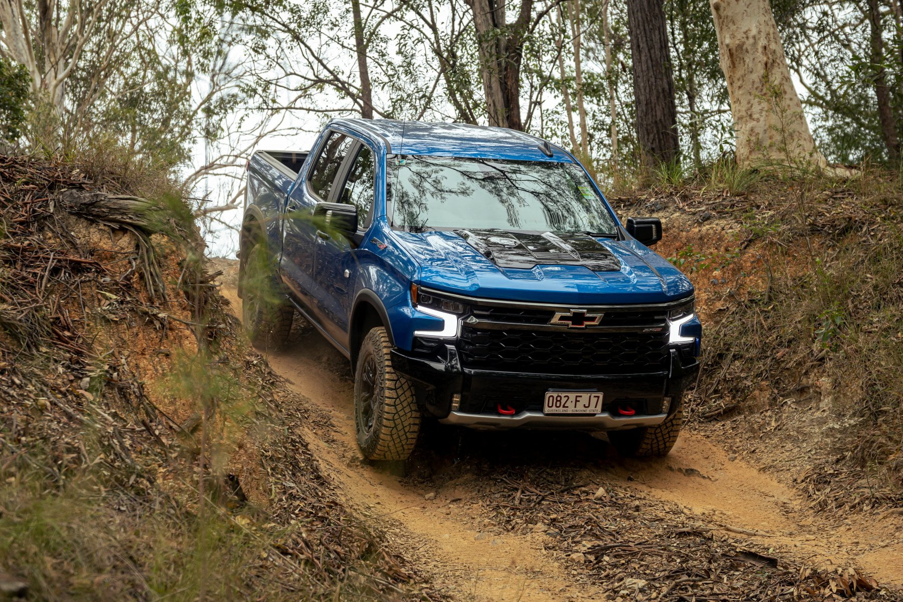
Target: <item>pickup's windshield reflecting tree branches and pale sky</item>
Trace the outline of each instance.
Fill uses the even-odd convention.
[[[538,202],[552,231],[610,233],[615,230],[594,191],[592,199],[584,197],[580,187],[590,187],[591,182],[572,163],[421,156],[396,163],[395,168],[394,221],[411,232],[432,229],[428,223],[431,206],[467,199],[479,194],[478,188],[505,208],[510,229],[520,229],[523,209]],[[470,208],[470,203],[461,205]]]

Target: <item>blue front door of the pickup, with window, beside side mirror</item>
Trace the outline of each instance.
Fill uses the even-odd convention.
[[[358,234],[362,235],[373,220],[376,194],[376,165],[367,144],[356,143],[352,147],[337,184],[340,188],[330,200],[358,208]],[[358,251],[354,247],[345,236],[321,233],[317,241],[315,278],[321,295],[318,301],[323,326],[343,345],[348,341],[350,306],[358,275]]]

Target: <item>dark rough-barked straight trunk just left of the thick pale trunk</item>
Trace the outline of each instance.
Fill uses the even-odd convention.
[[[675,86],[663,0],[628,0],[637,137],[647,164],[672,162],[680,153]]]

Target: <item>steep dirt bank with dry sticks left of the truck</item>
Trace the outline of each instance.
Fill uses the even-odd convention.
[[[0,156],[0,598],[441,598],[336,494],[189,209],[128,192]]]

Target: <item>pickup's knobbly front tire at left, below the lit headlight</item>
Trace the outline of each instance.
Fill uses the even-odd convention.
[[[392,367],[386,329],[364,337],[354,374],[354,425],[358,446],[370,460],[404,460],[420,431],[414,385]],[[372,419],[372,421],[371,421]]]

